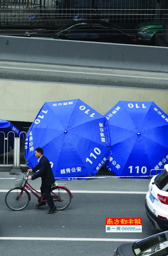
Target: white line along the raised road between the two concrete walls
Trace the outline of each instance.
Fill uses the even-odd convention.
[[[119,76],[119,77],[134,77],[134,78],[148,78],[148,79],[168,80],[168,78],[163,78],[163,77],[131,76],[131,75],[118,75],[118,74],[107,74],[107,73],[90,73],[90,72],[52,70],[52,69],[30,69],[30,68],[16,68],[16,67],[3,67],[3,66],[0,66],[0,68],[1,69],[23,69],[23,70],[46,71],[46,72],[58,72],[58,73],[76,73],[76,74],[99,75],[99,76]]]

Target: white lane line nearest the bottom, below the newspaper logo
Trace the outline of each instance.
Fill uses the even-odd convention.
[[[59,241],[106,241],[106,242],[134,242],[141,239],[117,238],[64,238],[64,237],[0,237],[0,240],[59,240]]]

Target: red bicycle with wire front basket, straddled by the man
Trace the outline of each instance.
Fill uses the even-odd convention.
[[[26,190],[26,188],[30,190],[38,198],[39,203],[40,202],[48,203],[48,200],[45,197],[45,195],[36,191],[27,182],[28,173],[26,175],[26,178],[23,173],[16,173],[16,179],[15,179],[16,187],[9,190],[6,194],[5,203],[7,207],[13,211],[20,211],[20,210],[23,210],[26,206],[28,206],[29,201],[31,200],[31,197],[30,197],[30,193]],[[67,208],[71,203],[71,199],[73,198],[70,190],[65,186],[67,186],[66,183],[62,183],[62,184],[54,183],[51,187],[51,195],[53,197],[54,204],[57,207],[57,211],[61,211]],[[40,196],[38,196],[37,193],[40,194]]]

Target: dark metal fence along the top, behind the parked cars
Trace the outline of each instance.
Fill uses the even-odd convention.
[[[2,25],[60,25],[95,18],[119,24],[161,20],[163,0],[0,0]]]

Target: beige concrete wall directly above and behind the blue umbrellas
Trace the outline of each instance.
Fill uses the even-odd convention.
[[[119,100],[154,101],[168,114],[168,90],[137,89],[112,86],[92,86],[0,80],[0,118],[11,121],[35,119],[47,101],[80,98],[104,115]]]

